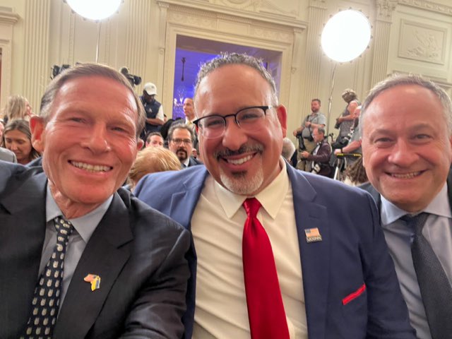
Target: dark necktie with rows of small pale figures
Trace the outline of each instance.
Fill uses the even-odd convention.
[[[58,232],[57,244],[37,281],[32,299],[32,313],[25,328],[25,335],[20,338],[52,338],[52,332],[57,322],[64,273],[64,255],[73,225],[61,217],[55,218],[54,224]]]

